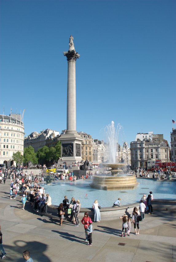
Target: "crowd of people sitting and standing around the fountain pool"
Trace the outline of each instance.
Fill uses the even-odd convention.
[[[145,172],[140,171],[143,176],[145,176]],[[140,173],[139,172],[139,173]],[[25,203],[29,199],[29,203],[31,206],[33,206],[34,210],[37,212],[44,212],[45,214],[48,213],[48,207],[52,205],[51,202],[51,197],[49,194],[45,194],[45,189],[40,186],[40,182],[42,182],[42,171],[40,172],[41,178],[38,181],[37,176],[34,177],[33,172],[31,171],[29,175],[27,175],[27,172],[23,173],[22,169],[11,169],[9,170],[4,170],[4,172],[1,173],[2,179],[4,181],[4,184],[6,183],[7,177],[10,178],[10,199],[18,196],[19,192],[22,192],[22,210],[25,209]],[[4,180],[4,177],[6,179]],[[73,176],[73,173],[69,171],[65,176],[61,176],[61,180],[65,179],[69,180],[69,177],[71,177],[72,182],[76,180],[76,176]],[[68,177],[68,178],[67,178]],[[82,176],[80,178],[82,179],[90,179],[92,177],[92,173],[89,171],[85,176]],[[70,179],[70,180],[71,180]],[[86,194],[87,195],[87,194]],[[85,195],[85,197],[86,197]],[[14,197],[13,197],[14,196]],[[122,219],[122,232],[121,232],[121,237],[126,237],[126,235],[130,236],[130,232],[132,229],[132,223],[134,224],[134,231],[135,234],[139,234],[139,221],[143,221],[145,219],[145,213],[148,212],[148,214],[153,214],[153,208],[152,208],[152,200],[153,200],[153,194],[150,192],[148,197],[146,198],[146,195],[144,194],[142,198],[140,199],[140,204],[139,204],[139,210],[137,207],[134,207],[133,212],[131,214],[131,217],[128,217],[128,215],[124,214],[123,216],[119,217]],[[121,199],[118,198],[115,200],[113,203],[113,207],[121,207],[120,203]],[[67,196],[64,197],[62,203],[59,204],[57,211],[58,211],[58,218],[60,220],[60,226],[63,225],[63,220],[65,219],[66,215],[68,215],[68,218],[70,221],[75,226],[80,225],[80,208],[81,208],[81,203],[79,199],[75,199],[74,197],[71,198],[69,201]],[[98,200],[95,200],[94,203],[92,204],[92,209],[93,209],[93,221],[94,222],[100,222],[100,205],[98,203]],[[151,213],[150,213],[151,212]],[[81,223],[84,225],[84,231],[85,231],[85,241],[88,242],[88,245],[92,245],[92,232],[93,232],[93,227],[92,227],[92,220],[88,214],[88,212],[84,213],[84,217],[81,219]],[[136,230],[137,227],[137,230]],[[6,253],[3,249],[2,246],[2,233],[1,233],[1,228],[0,228],[0,250],[2,253],[2,259],[6,257]],[[30,253],[28,250],[26,250],[23,253],[23,258],[27,259],[26,261],[32,262],[32,258],[30,258]]]

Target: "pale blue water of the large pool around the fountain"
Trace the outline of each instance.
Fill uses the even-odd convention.
[[[148,196],[152,191],[154,199],[176,199],[176,187],[174,181],[156,181],[152,179],[138,179],[139,185],[135,190],[103,191],[90,187],[92,180],[77,180],[75,184],[68,181],[57,181],[52,184],[42,184],[45,194],[49,193],[52,204],[62,203],[64,196],[69,200],[72,197],[79,199],[81,207],[92,207],[95,199],[101,207],[112,207],[114,201],[121,198],[121,205],[138,202],[143,194]],[[40,183],[41,185],[41,183]],[[88,194],[86,198],[85,195]]]

